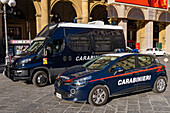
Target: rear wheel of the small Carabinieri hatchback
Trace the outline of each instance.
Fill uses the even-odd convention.
[[[154,83],[153,92],[162,93],[166,90],[167,81],[165,77],[158,77]]]

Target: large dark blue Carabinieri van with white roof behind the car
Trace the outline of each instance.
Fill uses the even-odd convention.
[[[49,24],[24,53],[12,58],[5,75],[14,81],[32,81],[41,87],[68,67],[115,49],[125,49],[120,26],[104,25],[101,21]]]

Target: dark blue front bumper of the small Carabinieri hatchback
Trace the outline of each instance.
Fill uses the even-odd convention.
[[[91,90],[91,85],[88,83],[84,86],[71,86],[71,85],[61,85],[58,86],[58,83],[55,82],[54,84],[55,92],[54,94],[61,95],[60,99],[65,99],[68,101],[75,101],[75,102],[82,102],[88,100],[88,95]],[[71,93],[71,90],[74,90],[75,93]]]

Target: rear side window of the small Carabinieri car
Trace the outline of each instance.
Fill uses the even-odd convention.
[[[150,56],[138,56],[138,65],[141,67],[148,66],[152,64],[153,60]]]

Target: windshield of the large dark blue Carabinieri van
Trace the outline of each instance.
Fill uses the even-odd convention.
[[[31,43],[31,46],[26,50],[26,52],[35,53],[41,47],[45,40],[35,40]]]

